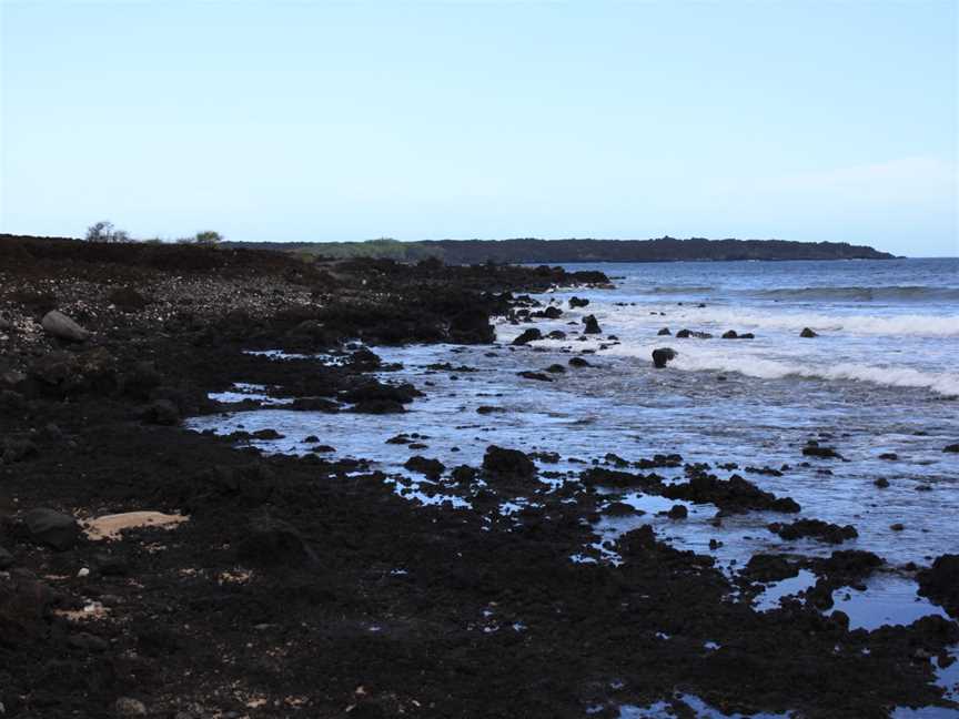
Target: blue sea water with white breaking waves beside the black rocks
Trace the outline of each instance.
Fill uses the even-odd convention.
[[[532,325],[501,318],[493,348],[373,347],[384,361],[403,365],[384,379],[412,382],[426,393],[404,415],[331,416],[276,406],[196,418],[192,426],[224,433],[273,427],[285,438],[255,443],[271,452],[307,452],[302,439],[319,435],[340,456],[375,458],[374,466],[395,478],[397,492],[412,502],[453,506],[467,503],[403,469],[411,454],[438,458],[448,467],[476,466],[485,448],[497,444],[558,452],[561,462],[548,469],[572,473],[583,467],[576,459],[602,459],[610,452],[630,460],[678,453],[687,462],[714,467],[736,463],[740,474],[747,466],[788,465],[779,477],[745,476],[795,498],[802,506],[801,517],[854,525],[859,537],[842,548],[875,551],[890,565],[865,591],[837,601],[854,625],[872,628],[945,615],[916,595],[915,581],[901,568],[959,551],[959,454],[942,452],[959,443],[959,260],[568,269],[602,270],[614,279],[615,288],[557,288],[538,295],[564,312],[535,326],[544,335],[562,330],[565,340],[513,347],[511,341]],[[571,310],[573,295],[588,298],[589,305]],[[598,320],[600,335],[581,334],[588,314]],[[663,327],[673,334],[658,335]],[[801,338],[805,327],[818,336]],[[682,328],[713,337],[677,340]],[[755,338],[720,338],[728,330]],[[663,346],[678,356],[656,369],[650,353]],[[517,375],[565,365],[581,354],[593,366],[569,368],[554,375],[554,382]],[[473,372],[430,369],[435,363],[465,365]],[[502,412],[478,414],[483,405]],[[424,435],[428,448],[414,453],[385,444],[411,432]],[[809,439],[835,447],[842,459],[804,457]],[[890,454],[897,458],[882,458]],[[877,487],[879,478],[889,486]],[[656,515],[654,505],[662,498],[637,494],[626,500],[653,510],[640,517],[604,517],[595,527],[600,541],[653,524],[675,546],[710,554],[730,575],[756,551],[828,555],[835,548],[779,539],[766,529],[778,517],[767,513],[728,518],[717,528],[709,521],[716,513],[709,505],[688,505],[688,518],[677,523]],[[504,505],[499,512],[517,508]],[[710,548],[710,539],[721,546]],[[571,559],[615,561],[599,544]],[[786,589],[771,591],[778,601]]]

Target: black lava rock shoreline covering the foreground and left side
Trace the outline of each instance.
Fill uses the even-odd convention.
[[[208,395],[238,383],[332,422],[403,413],[428,387],[374,377],[383,365],[365,345],[492,344],[492,316],[535,330],[546,312],[519,293],[607,282],[6,237],[0,716],[615,717],[664,699],[695,716],[677,692],[741,713],[948,706],[932,680],[952,661],[955,621],[868,632],[820,611],[836,588],[882,570],[881,557],[757,555],[734,580],[649,527],[598,545],[592,523],[629,512],[618,500],[637,488],[713,504],[717,521],[763,508],[781,513],[777,533],[848,535],[793,523],[788,497],[668,447],[635,464],[608,455],[555,485],[539,482],[548,456],[509,447],[491,446],[480,466],[414,454],[411,472],[471,505],[421,507],[369,462],[324,452],[322,436],[292,457],[181,426],[236,408]],[[54,336],[52,311],[89,336]],[[666,469],[685,480],[664,483]],[[516,499],[535,502],[491,512]],[[127,516],[142,512],[159,514]],[[590,546],[592,561],[571,561]],[[943,555],[918,574],[953,619],[957,564]],[[817,576],[806,602],[750,606],[764,583],[804,569]]]

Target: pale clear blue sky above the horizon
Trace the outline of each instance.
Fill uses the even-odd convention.
[[[0,0],[0,229],[959,254],[956,0]]]

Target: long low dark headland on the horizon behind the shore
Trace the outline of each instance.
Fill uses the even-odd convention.
[[[894,255],[847,242],[793,242],[786,240],[424,240],[400,242],[236,242],[235,247],[284,250],[302,254],[343,257],[383,257],[416,262],[436,257],[447,264],[576,262],[724,262],[744,260],[891,260]]]

